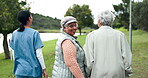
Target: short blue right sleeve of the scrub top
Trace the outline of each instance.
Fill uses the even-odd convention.
[[[37,31],[34,34],[34,46],[35,50],[37,50],[38,48],[42,48],[44,46],[40,38],[40,34]]]

